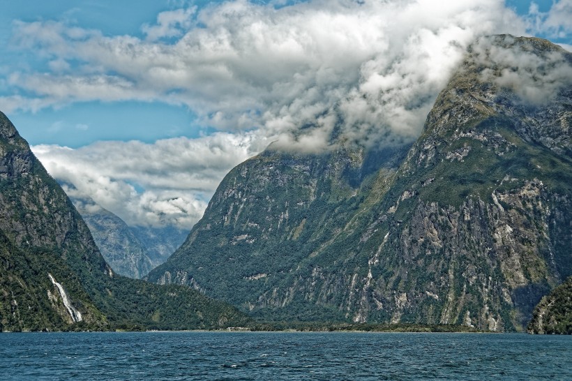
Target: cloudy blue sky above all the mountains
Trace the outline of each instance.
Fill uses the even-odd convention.
[[[271,142],[414,140],[480,36],[572,50],[572,0],[0,3],[0,111],[69,195],[130,225],[190,229]]]

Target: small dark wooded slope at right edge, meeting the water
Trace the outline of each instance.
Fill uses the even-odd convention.
[[[527,330],[530,334],[572,335],[572,276],[541,299]]]

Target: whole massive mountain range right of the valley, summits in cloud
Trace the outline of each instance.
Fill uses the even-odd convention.
[[[267,320],[523,331],[572,274],[571,56],[483,38],[412,146],[269,147],[149,281]]]

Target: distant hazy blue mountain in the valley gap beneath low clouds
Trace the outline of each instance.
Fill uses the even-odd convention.
[[[72,198],[93,240],[117,274],[142,278],[181,246],[188,232],[172,226],[128,226],[93,200]]]

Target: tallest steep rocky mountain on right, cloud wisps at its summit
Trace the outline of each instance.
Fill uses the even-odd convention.
[[[515,57],[539,65],[533,89],[570,73],[571,54],[545,40],[474,46],[379,204],[388,222],[360,252],[370,273],[355,320],[522,330],[571,274],[571,77],[531,103],[502,85]]]

